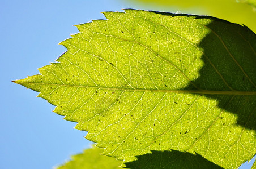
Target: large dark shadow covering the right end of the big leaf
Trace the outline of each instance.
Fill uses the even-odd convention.
[[[155,12],[155,11],[152,11]],[[155,12],[168,16],[187,16]],[[196,15],[190,15],[196,16]],[[199,43],[204,65],[200,77],[193,83],[201,90],[208,91],[256,91],[256,34],[248,27],[229,23],[211,16],[197,16],[197,19],[212,19],[205,26],[211,33]],[[186,68],[184,68],[186,69]],[[183,90],[198,90],[192,84]],[[218,100],[221,109],[238,116],[237,123],[250,130],[256,130],[255,95],[204,95]],[[220,117],[219,118],[223,118]],[[226,124],[223,123],[225,126]],[[232,124],[235,125],[235,124]]]

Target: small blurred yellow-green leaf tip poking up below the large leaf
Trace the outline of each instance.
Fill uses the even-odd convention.
[[[118,169],[122,162],[114,158],[100,155],[103,149],[93,146],[91,149],[84,150],[81,154],[73,155],[71,161],[66,162],[62,166],[58,166],[58,169],[79,169],[79,168],[106,168],[106,169]]]

